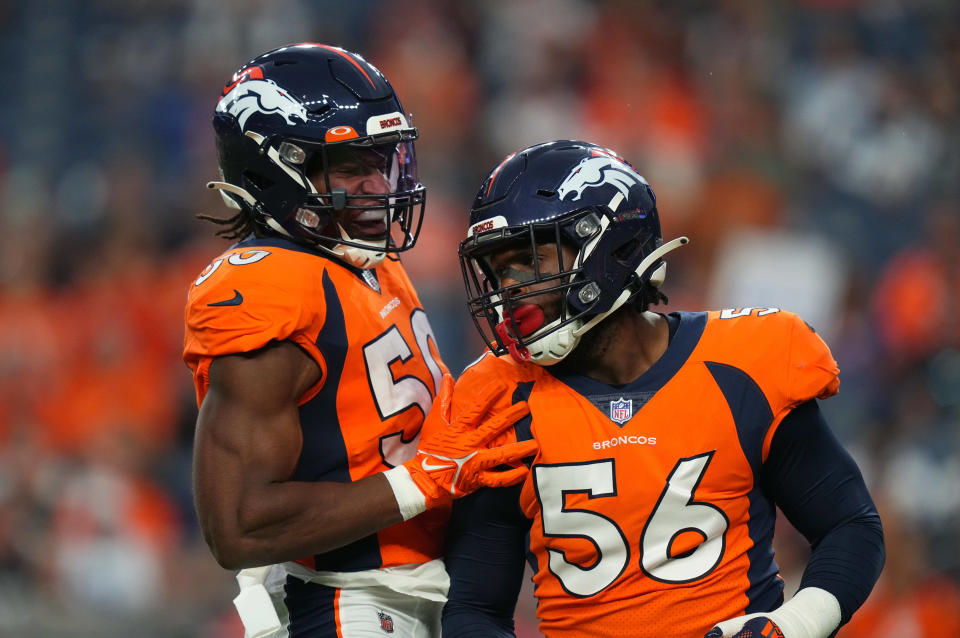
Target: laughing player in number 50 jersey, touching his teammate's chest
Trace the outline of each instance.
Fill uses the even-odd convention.
[[[239,241],[186,308],[204,538],[242,570],[250,636],[436,636],[452,499],[521,480],[492,468],[535,443],[478,452],[525,411],[490,413],[497,384],[450,421],[453,382],[396,256],[423,218],[417,130],[376,68],[322,44],[241,67],[213,126],[208,186],[235,213],[206,219]]]

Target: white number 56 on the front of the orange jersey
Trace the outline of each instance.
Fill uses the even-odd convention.
[[[723,510],[694,500],[694,491],[713,458],[713,452],[680,459],[640,534],[640,569],[664,583],[687,583],[712,572],[723,557],[730,522]],[[613,459],[587,463],[536,465],[534,488],[547,538],[583,538],[596,548],[589,567],[567,560],[563,552],[547,549],[550,572],[572,596],[585,598],[609,587],[630,560],[630,543],[619,525],[603,514],[566,506],[566,495],[587,498],[617,495]],[[699,537],[699,538],[697,538]],[[678,548],[682,543],[683,546]],[[684,549],[692,547],[692,549]]]

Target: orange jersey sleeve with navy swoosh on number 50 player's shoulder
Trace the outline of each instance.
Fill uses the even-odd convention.
[[[252,261],[251,255],[263,256]],[[326,364],[316,337],[329,300],[320,276],[307,276],[295,262],[283,251],[231,251],[191,283],[183,358],[194,373],[198,403],[206,394],[213,358],[253,352],[271,341],[293,341],[320,366],[320,383],[301,401],[319,391]]]

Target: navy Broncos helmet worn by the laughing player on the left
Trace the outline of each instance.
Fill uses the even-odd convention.
[[[254,58],[223,87],[213,128],[222,181],[207,186],[261,227],[358,268],[416,243],[426,198],[417,129],[383,74],[356,53],[304,43]],[[331,152],[351,149],[376,154],[387,192],[330,187]],[[322,184],[310,179],[318,171]],[[385,233],[350,236],[344,219],[379,222],[381,211]]]

